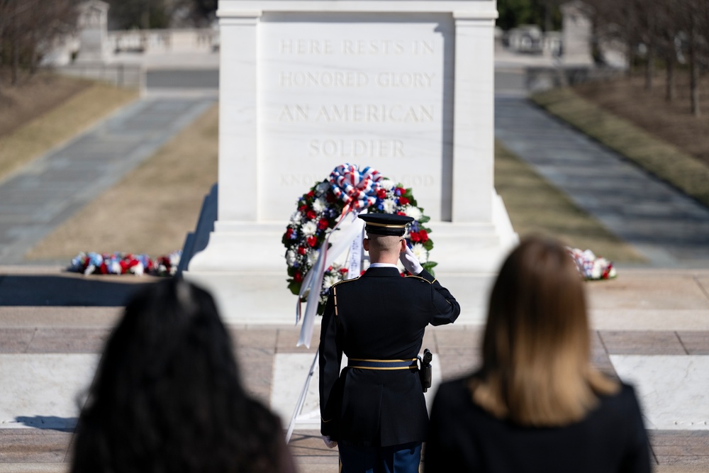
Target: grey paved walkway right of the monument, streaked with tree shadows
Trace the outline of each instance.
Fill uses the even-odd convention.
[[[496,96],[495,135],[656,267],[709,267],[709,208],[549,116]]]

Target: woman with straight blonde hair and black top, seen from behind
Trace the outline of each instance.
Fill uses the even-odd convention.
[[[426,473],[649,472],[635,392],[591,367],[589,345],[573,260],[524,240],[493,287],[481,369],[437,391]]]

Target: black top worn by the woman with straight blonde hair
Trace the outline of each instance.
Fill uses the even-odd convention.
[[[472,401],[469,379],[440,385],[425,445],[425,473],[649,473],[635,392],[601,396],[584,420],[559,428],[501,421]]]

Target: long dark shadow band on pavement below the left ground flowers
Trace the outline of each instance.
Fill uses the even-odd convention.
[[[0,306],[125,306],[136,291],[159,281],[120,282],[61,275],[0,276]],[[148,278],[148,277],[144,277]]]

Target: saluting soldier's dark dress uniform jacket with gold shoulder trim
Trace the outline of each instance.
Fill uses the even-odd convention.
[[[401,277],[394,267],[370,267],[335,284],[320,331],[320,430],[345,445],[386,447],[423,442],[428,413],[415,369],[345,367],[359,360],[413,360],[426,325],[452,323],[460,306],[424,270]]]

